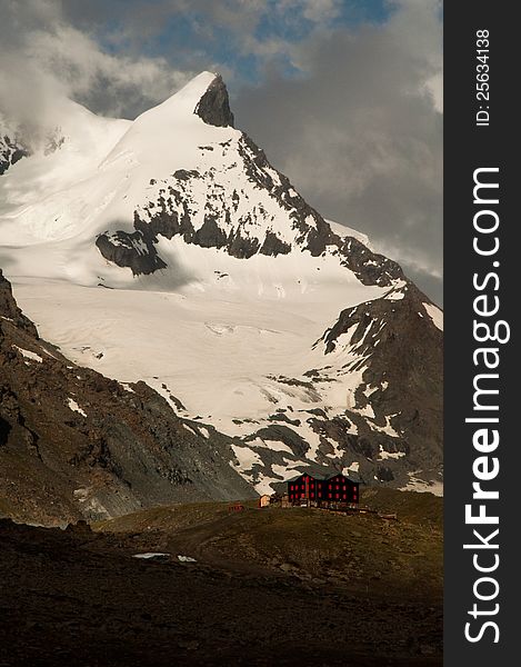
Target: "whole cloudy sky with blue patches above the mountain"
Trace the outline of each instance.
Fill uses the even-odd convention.
[[[324,217],[442,302],[440,0],[0,0],[0,112],[134,118],[202,70]]]

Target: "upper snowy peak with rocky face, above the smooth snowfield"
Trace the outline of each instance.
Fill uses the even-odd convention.
[[[16,261],[29,275],[122,286],[157,273],[168,289],[183,266],[189,281],[208,282],[200,262],[187,267],[196,246],[212,250],[204,256],[210,275],[223,270],[216,251],[241,260],[305,252],[345,280],[389,287],[402,278],[363,236],[332,229],[233,128],[219,74],[200,73],[134,121],[100,118],[74,102],[58,121],[53,150],[17,163],[0,182],[2,236],[22,242]],[[317,270],[313,278],[299,270],[291,285],[314,281]]]

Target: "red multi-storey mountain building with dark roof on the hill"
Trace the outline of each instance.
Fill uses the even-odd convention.
[[[358,505],[359,497],[358,481],[351,481],[340,472],[329,477],[304,472],[288,481],[288,500],[293,505],[299,505],[303,500],[319,505],[330,502]]]

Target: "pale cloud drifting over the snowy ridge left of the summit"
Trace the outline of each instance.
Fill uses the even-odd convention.
[[[120,116],[166,99],[197,73],[176,70],[161,57],[107,53],[63,21],[57,2],[9,4],[0,38],[1,110],[10,125],[51,122],[66,97]]]

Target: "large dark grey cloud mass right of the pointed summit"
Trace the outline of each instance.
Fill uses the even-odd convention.
[[[361,231],[441,302],[442,115],[435,6],[317,36],[305,74],[241,91],[239,125],[325,217]]]

